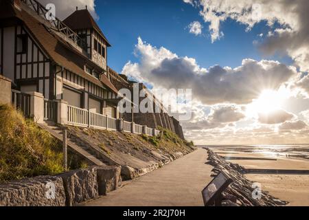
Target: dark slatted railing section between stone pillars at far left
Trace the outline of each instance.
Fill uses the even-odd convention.
[[[23,113],[26,118],[30,118],[31,96],[21,91],[12,90],[12,105]]]

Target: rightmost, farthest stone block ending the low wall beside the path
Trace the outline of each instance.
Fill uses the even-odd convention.
[[[122,184],[121,166],[98,166],[98,189],[99,195],[106,195],[116,190]]]

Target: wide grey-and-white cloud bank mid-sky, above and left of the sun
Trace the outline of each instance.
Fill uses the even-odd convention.
[[[265,89],[279,89],[295,67],[276,61],[245,59],[240,67],[205,69],[194,58],[179,57],[164,47],[153,47],[140,38],[135,47],[139,63],[128,62],[122,70],[137,80],[165,89],[192,89],[193,97],[203,104],[249,104]]]

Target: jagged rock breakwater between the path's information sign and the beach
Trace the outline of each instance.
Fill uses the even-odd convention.
[[[214,166],[211,176],[215,177],[220,172],[225,171],[233,180],[233,183],[222,192],[222,206],[286,206],[286,201],[281,201],[268,192],[262,191],[260,197],[254,197],[254,183],[244,177],[245,168],[238,164],[227,162],[223,157],[217,155],[209,148],[207,164]]]

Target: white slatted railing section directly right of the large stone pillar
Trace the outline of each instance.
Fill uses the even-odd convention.
[[[68,105],[67,122],[71,125],[89,126],[89,111]]]

